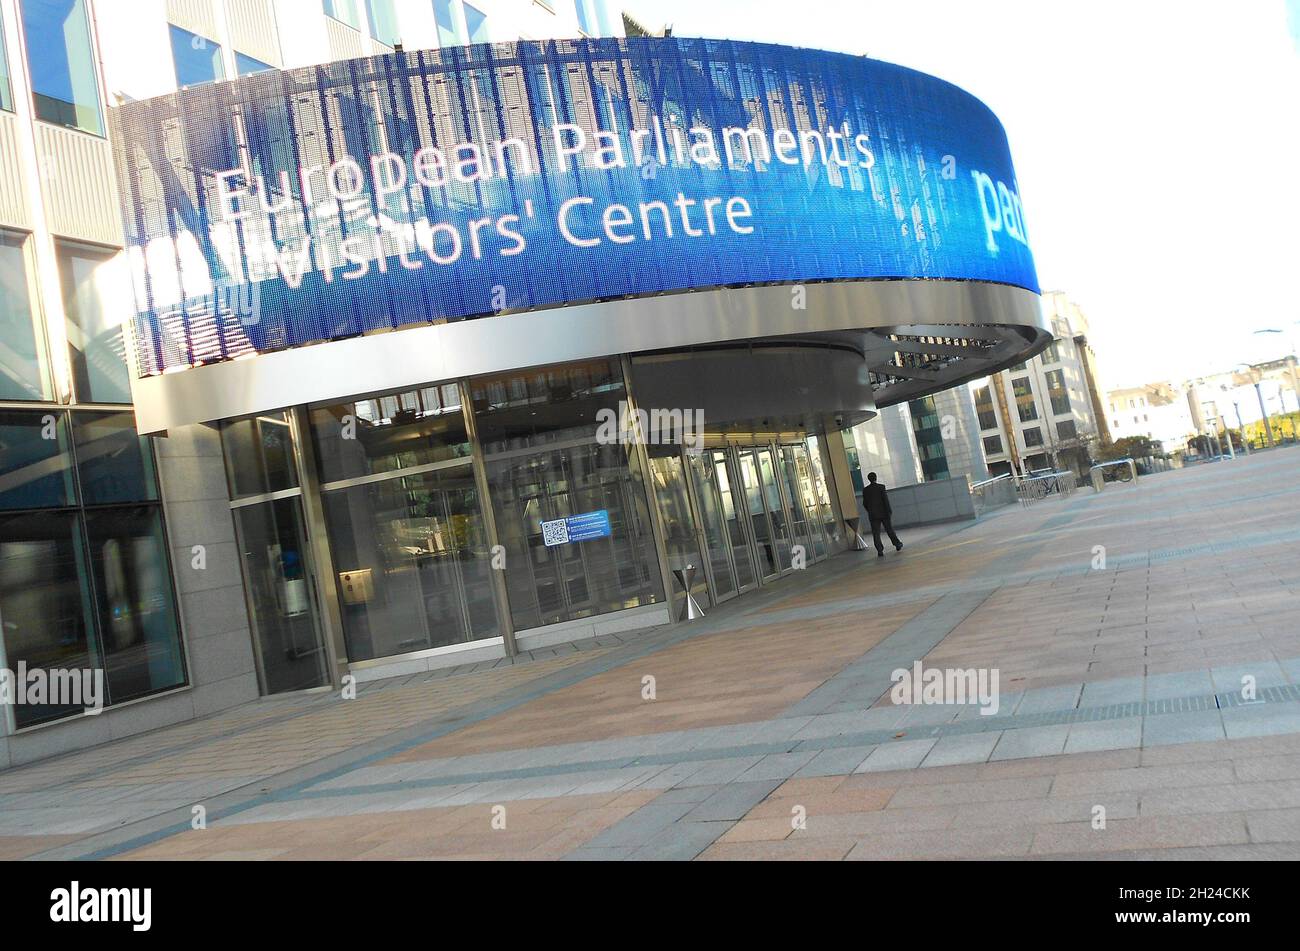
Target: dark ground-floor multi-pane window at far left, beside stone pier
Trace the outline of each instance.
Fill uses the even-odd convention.
[[[0,413],[10,669],[101,669],[105,703],[186,682],[152,446],[129,412]],[[17,725],[70,713],[17,705]]]

